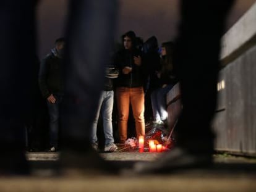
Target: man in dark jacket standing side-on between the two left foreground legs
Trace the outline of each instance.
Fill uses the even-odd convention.
[[[59,148],[59,111],[64,96],[64,46],[65,39],[58,38],[55,46],[41,62],[38,82],[49,112],[49,152]]]

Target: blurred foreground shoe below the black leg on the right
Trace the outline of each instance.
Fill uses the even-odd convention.
[[[192,154],[182,148],[163,153],[155,162],[138,162],[134,165],[134,172],[137,174],[148,173],[170,173],[174,170],[197,169],[210,167],[212,165],[212,155]]]

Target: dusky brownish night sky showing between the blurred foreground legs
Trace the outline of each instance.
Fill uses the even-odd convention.
[[[71,0],[72,1],[72,0]],[[179,0],[119,0],[116,40],[122,33],[134,30],[147,40],[155,35],[159,43],[173,40],[179,22]],[[223,0],[224,1],[224,0]],[[237,0],[229,14],[231,27],[256,0]],[[64,35],[67,0],[41,0],[38,7],[38,54],[43,58],[54,46],[54,40]]]

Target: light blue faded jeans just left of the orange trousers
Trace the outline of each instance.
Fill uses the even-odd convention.
[[[97,124],[100,116],[100,111],[102,111],[103,117],[103,130],[105,135],[105,146],[114,143],[113,138],[113,127],[112,127],[112,111],[114,104],[114,91],[103,91],[100,96],[100,101],[98,104],[98,110],[96,111],[95,119],[92,125],[92,143],[97,143]]]

